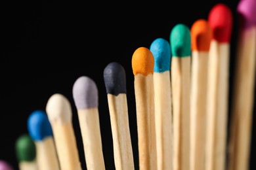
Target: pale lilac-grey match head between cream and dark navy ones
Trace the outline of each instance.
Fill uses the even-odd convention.
[[[72,92],[77,110],[98,107],[98,88],[95,81],[88,76],[77,78]]]

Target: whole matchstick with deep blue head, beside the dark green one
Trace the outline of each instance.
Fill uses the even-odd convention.
[[[38,169],[60,169],[51,124],[43,110],[35,110],[28,117],[28,132],[35,143]]]

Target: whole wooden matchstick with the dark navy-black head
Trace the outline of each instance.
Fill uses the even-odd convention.
[[[116,170],[133,170],[133,148],[129,128],[125,69],[117,62],[104,68],[104,83],[114,145]]]

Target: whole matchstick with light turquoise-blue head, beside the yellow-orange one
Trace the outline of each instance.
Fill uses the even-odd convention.
[[[173,169],[173,118],[171,110],[171,46],[165,39],[150,45],[154,56],[154,103],[158,170]]]

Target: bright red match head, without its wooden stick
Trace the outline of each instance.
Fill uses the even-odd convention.
[[[230,42],[232,32],[232,11],[223,3],[215,5],[209,12],[208,22],[213,30],[213,39]]]

